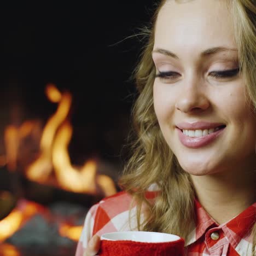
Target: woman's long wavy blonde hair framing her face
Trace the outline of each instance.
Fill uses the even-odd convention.
[[[166,1],[161,1],[156,8],[152,26],[146,31],[147,45],[135,70],[139,92],[132,110],[133,135],[136,138],[131,145],[132,156],[126,164],[120,185],[133,195],[137,203],[139,230],[168,232],[186,240],[195,225],[195,193],[189,174],[179,166],[176,156],[162,136],[153,107],[155,66],[152,50],[155,23],[159,10]],[[256,6],[253,0],[229,0],[228,3],[235,21],[235,39],[240,68],[245,75],[247,96],[256,108]],[[153,203],[145,196],[152,184],[159,187],[158,196]],[[141,222],[141,209],[145,204],[148,206],[148,218]],[[256,224],[252,234],[254,253]]]

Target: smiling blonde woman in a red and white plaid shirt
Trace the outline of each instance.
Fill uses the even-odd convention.
[[[255,22],[254,0],[160,3],[136,73],[126,192],[91,208],[77,256],[117,230],[182,236],[188,255],[254,255]]]

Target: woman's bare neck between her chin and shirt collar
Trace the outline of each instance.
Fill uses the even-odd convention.
[[[191,180],[202,207],[218,224],[223,224],[256,201],[255,176],[254,171],[226,172],[191,176]]]

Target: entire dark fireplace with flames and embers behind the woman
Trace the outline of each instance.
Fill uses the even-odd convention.
[[[74,255],[89,207],[119,190],[154,4],[5,2],[0,256]]]

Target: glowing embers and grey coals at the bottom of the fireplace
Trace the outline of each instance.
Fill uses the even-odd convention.
[[[0,220],[0,256],[73,255],[87,211],[67,202],[46,207],[20,199]]]

